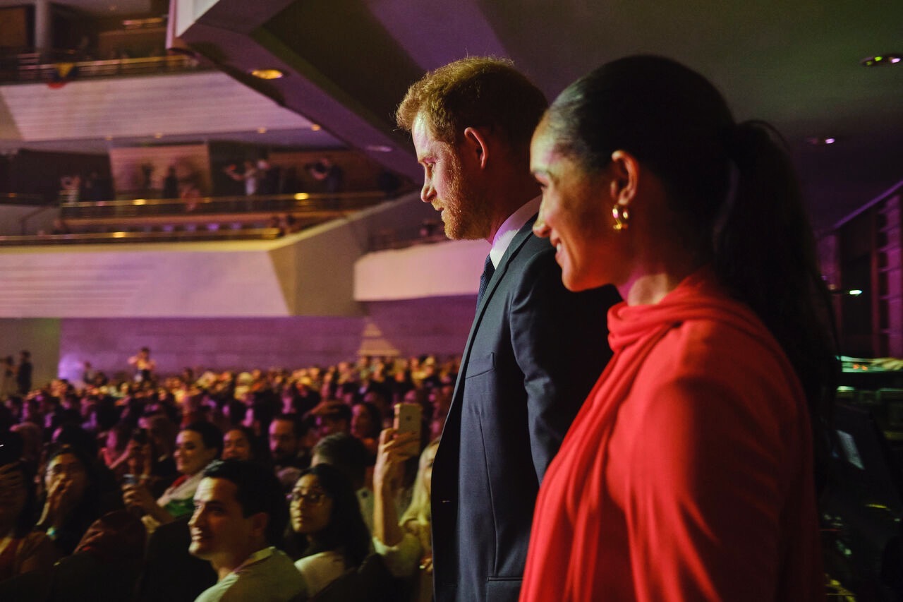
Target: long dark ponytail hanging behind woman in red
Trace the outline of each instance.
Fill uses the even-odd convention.
[[[736,125],[725,146],[737,177],[715,234],[714,268],[793,364],[813,419],[816,469],[823,473],[837,386],[836,335],[796,174],[783,139],[764,122]]]

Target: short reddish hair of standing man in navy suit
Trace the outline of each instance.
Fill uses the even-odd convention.
[[[491,127],[512,147],[528,151],[547,105],[543,92],[513,62],[475,56],[430,71],[414,83],[396,110],[396,121],[410,131],[423,113],[431,134],[452,144],[465,127]]]

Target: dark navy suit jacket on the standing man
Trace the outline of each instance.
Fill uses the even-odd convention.
[[[433,463],[439,602],[517,600],[539,483],[611,356],[618,292],[564,288],[533,221],[477,307]]]

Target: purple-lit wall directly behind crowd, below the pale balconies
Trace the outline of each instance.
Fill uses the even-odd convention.
[[[195,369],[300,368],[359,355],[458,355],[473,320],[474,296],[368,303],[361,317],[66,318],[59,374],[79,381],[84,362],[114,376],[130,372],[143,346],[161,373]]]

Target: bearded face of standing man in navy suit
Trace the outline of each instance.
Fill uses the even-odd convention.
[[[424,167],[424,188],[420,198],[433,205],[452,240],[480,240],[489,237],[489,205],[470,182],[458,146],[437,140],[423,113],[411,127],[417,162]]]

